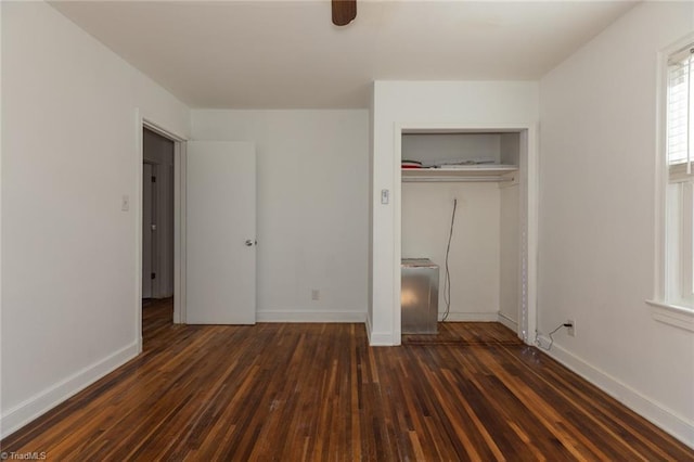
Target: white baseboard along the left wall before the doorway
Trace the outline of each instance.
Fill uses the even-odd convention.
[[[134,342],[8,410],[0,419],[0,438],[13,434],[137,355],[138,344]]]

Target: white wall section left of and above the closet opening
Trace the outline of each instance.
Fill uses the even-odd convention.
[[[396,285],[394,201],[381,203],[381,191],[395,183],[396,125],[536,124],[539,118],[538,84],[532,81],[376,81],[373,103],[373,190],[371,273],[372,295],[368,319],[373,345],[397,345],[399,295]],[[399,165],[400,158],[397,158]],[[399,200],[395,197],[396,204]],[[498,213],[498,209],[496,210]],[[399,222],[397,223],[399,226]],[[399,242],[396,244],[399,246]],[[399,270],[399,266],[398,266]],[[396,318],[397,317],[397,318]]]

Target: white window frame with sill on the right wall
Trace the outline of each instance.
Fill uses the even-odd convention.
[[[694,33],[689,34],[681,40],[678,40],[670,47],[658,53],[658,79],[657,79],[657,124],[656,124],[656,265],[655,265],[655,293],[653,299],[646,300],[652,307],[653,318],[657,321],[676,325],[694,332],[694,283],[692,278],[694,274],[694,264],[692,262],[692,253],[694,252],[692,240],[694,240],[694,226],[692,224],[692,206],[694,206],[694,185],[693,181],[684,181],[682,183],[673,183],[670,179],[670,166],[668,164],[667,142],[668,142],[668,125],[667,125],[667,103],[668,103],[668,60],[681,51],[682,49],[694,44]],[[694,115],[693,115],[694,116]],[[682,164],[684,167],[685,164]],[[679,165],[678,167],[679,168]],[[684,249],[682,257],[689,258],[689,265],[682,265],[680,261],[676,264],[680,268],[673,268],[673,262],[668,259],[668,214],[671,214],[672,204],[668,204],[668,189],[673,184],[681,191],[679,198],[680,227],[678,235],[680,243],[679,248]],[[670,201],[672,202],[672,201]],[[687,208],[689,207],[689,208]],[[687,211],[689,210],[689,211]],[[689,235],[689,239],[683,239]],[[686,243],[684,243],[686,242]],[[673,274],[677,273],[677,281],[672,281]],[[673,283],[674,282],[674,283]],[[685,293],[686,291],[686,293]],[[673,295],[679,294],[679,296]]]

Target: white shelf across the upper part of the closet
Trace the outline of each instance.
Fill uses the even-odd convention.
[[[513,165],[470,165],[455,168],[403,168],[402,181],[513,181]]]

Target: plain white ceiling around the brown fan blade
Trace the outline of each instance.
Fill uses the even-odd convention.
[[[373,80],[535,80],[631,1],[59,1],[191,107],[368,107]]]

